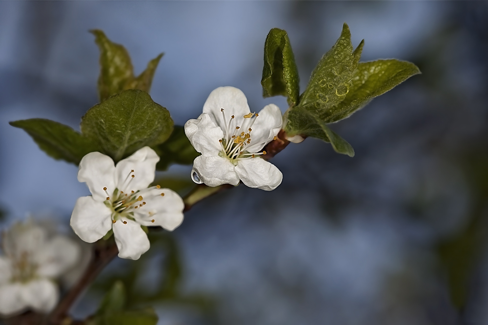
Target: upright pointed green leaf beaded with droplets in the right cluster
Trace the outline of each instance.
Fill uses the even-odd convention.
[[[357,56],[353,55],[351,32],[345,23],[341,37],[312,72],[299,105],[320,115],[327,108],[343,101],[351,88]]]

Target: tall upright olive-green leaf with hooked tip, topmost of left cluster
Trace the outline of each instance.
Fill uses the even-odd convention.
[[[100,49],[100,76],[98,92],[100,100],[119,94],[127,81],[134,78],[132,63],[127,50],[113,43],[101,30],[90,31]]]

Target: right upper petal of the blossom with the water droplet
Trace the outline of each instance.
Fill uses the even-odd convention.
[[[283,124],[280,108],[275,104],[266,105],[258,115],[252,125],[251,144],[245,148],[249,153],[260,152],[280,132]]]

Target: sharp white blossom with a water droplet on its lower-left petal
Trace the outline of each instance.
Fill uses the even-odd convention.
[[[282,127],[278,106],[266,105],[251,113],[244,93],[234,87],[219,87],[203,104],[203,113],[184,125],[196,151],[192,179],[207,186],[239,184],[271,191],[281,184],[283,174],[259,157],[264,146],[276,138]]]

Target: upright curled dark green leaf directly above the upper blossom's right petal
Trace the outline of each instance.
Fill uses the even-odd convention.
[[[279,28],[269,31],[264,42],[263,97],[282,95],[288,104],[296,105],[299,95],[298,69],[286,32]]]

